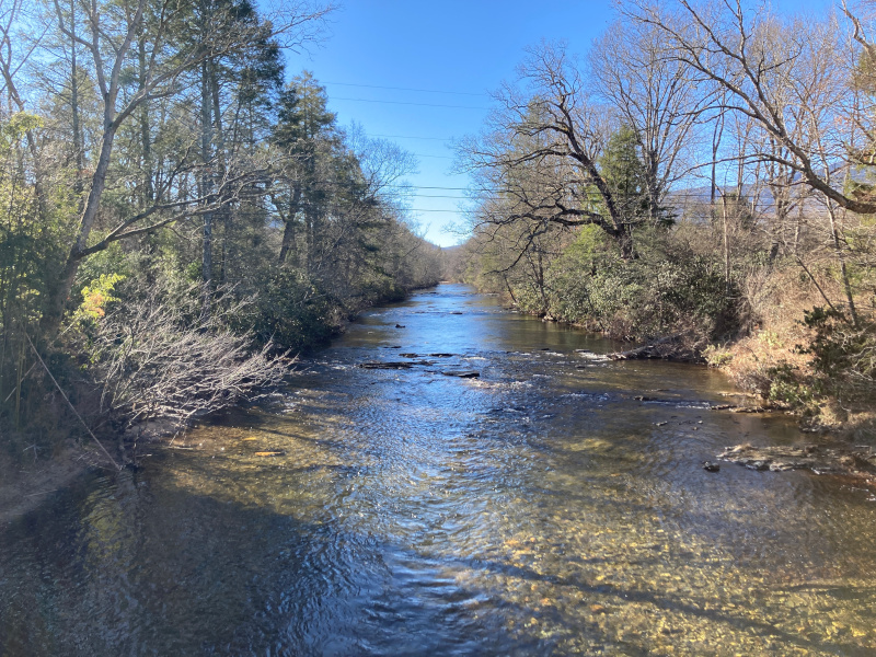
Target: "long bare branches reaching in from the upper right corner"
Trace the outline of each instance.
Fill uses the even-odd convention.
[[[837,22],[783,23],[746,10],[741,0],[678,0],[675,7],[635,0],[624,13],[662,32],[667,51],[693,80],[725,90],[725,108],[749,116],[769,136],[748,157],[789,168],[839,207],[876,212],[876,200],[826,180],[827,171],[854,163],[865,141],[855,129],[865,117],[853,102],[852,71],[838,57],[845,46]]]

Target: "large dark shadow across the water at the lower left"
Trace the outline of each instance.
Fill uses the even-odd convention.
[[[201,463],[185,468],[210,474]],[[328,517],[155,489],[136,473],[65,496],[5,534],[31,544],[14,566],[0,557],[2,590],[14,591],[0,608],[0,655],[465,654],[480,635],[494,654],[535,647],[489,619],[468,637],[442,631],[451,610],[393,590],[380,555],[399,550]],[[354,546],[356,572],[344,573]]]

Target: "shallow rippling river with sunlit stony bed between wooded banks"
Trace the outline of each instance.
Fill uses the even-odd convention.
[[[368,314],[195,449],[4,528],[0,654],[876,654],[869,494],[703,471],[804,437],[611,347],[462,286]]]

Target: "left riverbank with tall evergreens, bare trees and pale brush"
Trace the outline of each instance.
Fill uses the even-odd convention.
[[[0,461],[184,426],[439,279],[413,157],[284,64],[333,9],[0,4]]]

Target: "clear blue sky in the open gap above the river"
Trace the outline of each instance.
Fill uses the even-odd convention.
[[[818,10],[828,0],[782,0],[782,10]],[[288,58],[311,70],[341,125],[356,122],[418,155],[413,219],[442,246],[461,241],[459,211],[469,180],[452,175],[449,140],[477,132],[488,93],[514,77],[523,48],[564,39],[584,54],[614,20],[612,0],[346,0],[327,38]],[[390,89],[392,88],[392,89]]]

